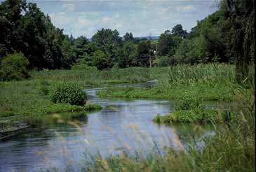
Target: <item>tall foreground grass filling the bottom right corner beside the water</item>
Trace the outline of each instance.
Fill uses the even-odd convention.
[[[215,127],[215,136],[204,139],[203,148],[191,143],[186,151],[167,149],[148,156],[95,157],[88,171],[255,171],[255,71],[249,87],[233,85],[235,116],[229,124]],[[232,79],[232,81],[234,81]],[[247,85],[248,86],[248,85]],[[193,136],[192,136],[193,137]],[[193,140],[193,139],[191,139]]]

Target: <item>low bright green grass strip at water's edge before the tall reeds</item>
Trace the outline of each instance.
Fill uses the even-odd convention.
[[[120,97],[120,98],[151,98],[151,99],[178,99],[180,96],[189,94],[198,99],[227,101],[234,97],[231,87],[224,84],[215,85],[180,85],[173,87],[162,87],[157,85],[154,88],[133,88],[111,87],[98,92],[101,97]]]

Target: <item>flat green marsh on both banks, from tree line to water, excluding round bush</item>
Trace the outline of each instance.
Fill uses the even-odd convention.
[[[228,64],[182,65],[166,68],[128,68],[109,71],[44,70],[32,71],[29,80],[0,84],[0,119],[9,122],[17,117],[48,115],[60,112],[98,109],[53,103],[48,99],[48,87],[55,83],[78,83],[82,87],[113,85],[114,83],[141,83],[158,80],[154,88],[118,87],[100,92],[100,96],[126,98],[178,99],[188,94],[198,99],[230,100],[234,83],[234,66]]]

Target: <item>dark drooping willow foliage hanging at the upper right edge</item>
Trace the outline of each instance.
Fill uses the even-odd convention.
[[[255,62],[255,8],[253,0],[222,1],[224,40],[230,55],[236,57],[236,81],[248,78],[249,65]]]

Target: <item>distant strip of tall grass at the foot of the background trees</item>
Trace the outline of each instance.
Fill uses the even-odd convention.
[[[42,80],[77,82],[81,85],[102,85],[114,83],[141,83],[159,78],[165,69],[128,68],[105,71],[87,70],[44,70],[33,71],[32,78]]]

